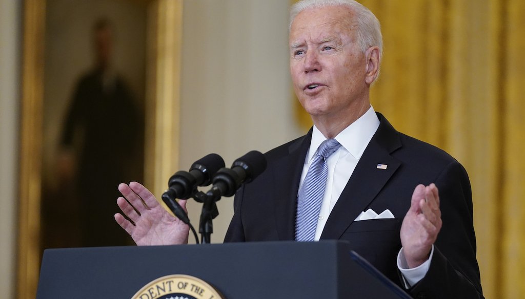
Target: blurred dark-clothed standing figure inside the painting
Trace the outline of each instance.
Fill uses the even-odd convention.
[[[95,67],[75,88],[59,167],[62,177],[73,174],[69,179],[78,202],[80,246],[126,245],[130,239],[113,220],[118,210],[114,198],[122,180],[142,177],[144,122],[137,101],[111,65],[111,23],[99,20],[93,38]]]

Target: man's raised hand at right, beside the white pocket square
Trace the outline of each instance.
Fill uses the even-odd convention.
[[[442,224],[436,185],[417,185],[401,226],[401,244],[409,268],[428,260]]]

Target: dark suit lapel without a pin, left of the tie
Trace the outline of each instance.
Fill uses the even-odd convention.
[[[288,147],[288,153],[277,161],[278,167],[274,168],[274,206],[279,240],[295,240],[297,192],[311,139],[310,129],[307,135]]]

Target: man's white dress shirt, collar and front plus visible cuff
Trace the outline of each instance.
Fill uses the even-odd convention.
[[[366,146],[369,144],[372,136],[377,131],[379,127],[379,119],[375,114],[375,111],[372,106],[366,111],[358,120],[350,124],[346,129],[341,131],[335,140],[337,140],[341,146],[327,159],[328,164],[328,178],[327,184],[324,190],[323,201],[321,204],[321,210],[319,212],[319,218],[317,222],[316,235],[314,240],[319,241],[321,233],[324,229],[328,217],[337,203],[337,200],[341,196],[346,183],[350,179],[350,176],[354,172],[355,166],[358,164],[359,159],[363,155],[363,152]],[[313,126],[312,132],[312,141],[310,143],[310,148],[304,160],[304,166],[302,168],[301,174],[301,183],[299,185],[299,190],[301,189],[304,177],[310,168],[310,164],[313,161],[313,158],[317,154],[317,149],[319,145],[326,140],[327,138]],[[415,186],[414,186],[415,188]],[[395,215],[395,217],[404,217],[404,215]],[[418,281],[423,279],[425,274],[428,272],[430,266],[430,260],[432,259],[432,253],[434,253],[434,247],[430,254],[430,258],[414,269],[407,269],[406,260],[403,255],[403,249],[400,250],[397,255],[397,267],[400,269],[401,273],[405,279],[405,287],[412,286]]]

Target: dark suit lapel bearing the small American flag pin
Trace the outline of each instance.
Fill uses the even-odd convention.
[[[390,154],[401,147],[397,131],[377,113],[380,125],[359,159],[324,226],[321,239],[339,239],[396,172],[401,162]],[[388,165],[378,169],[377,164]]]

